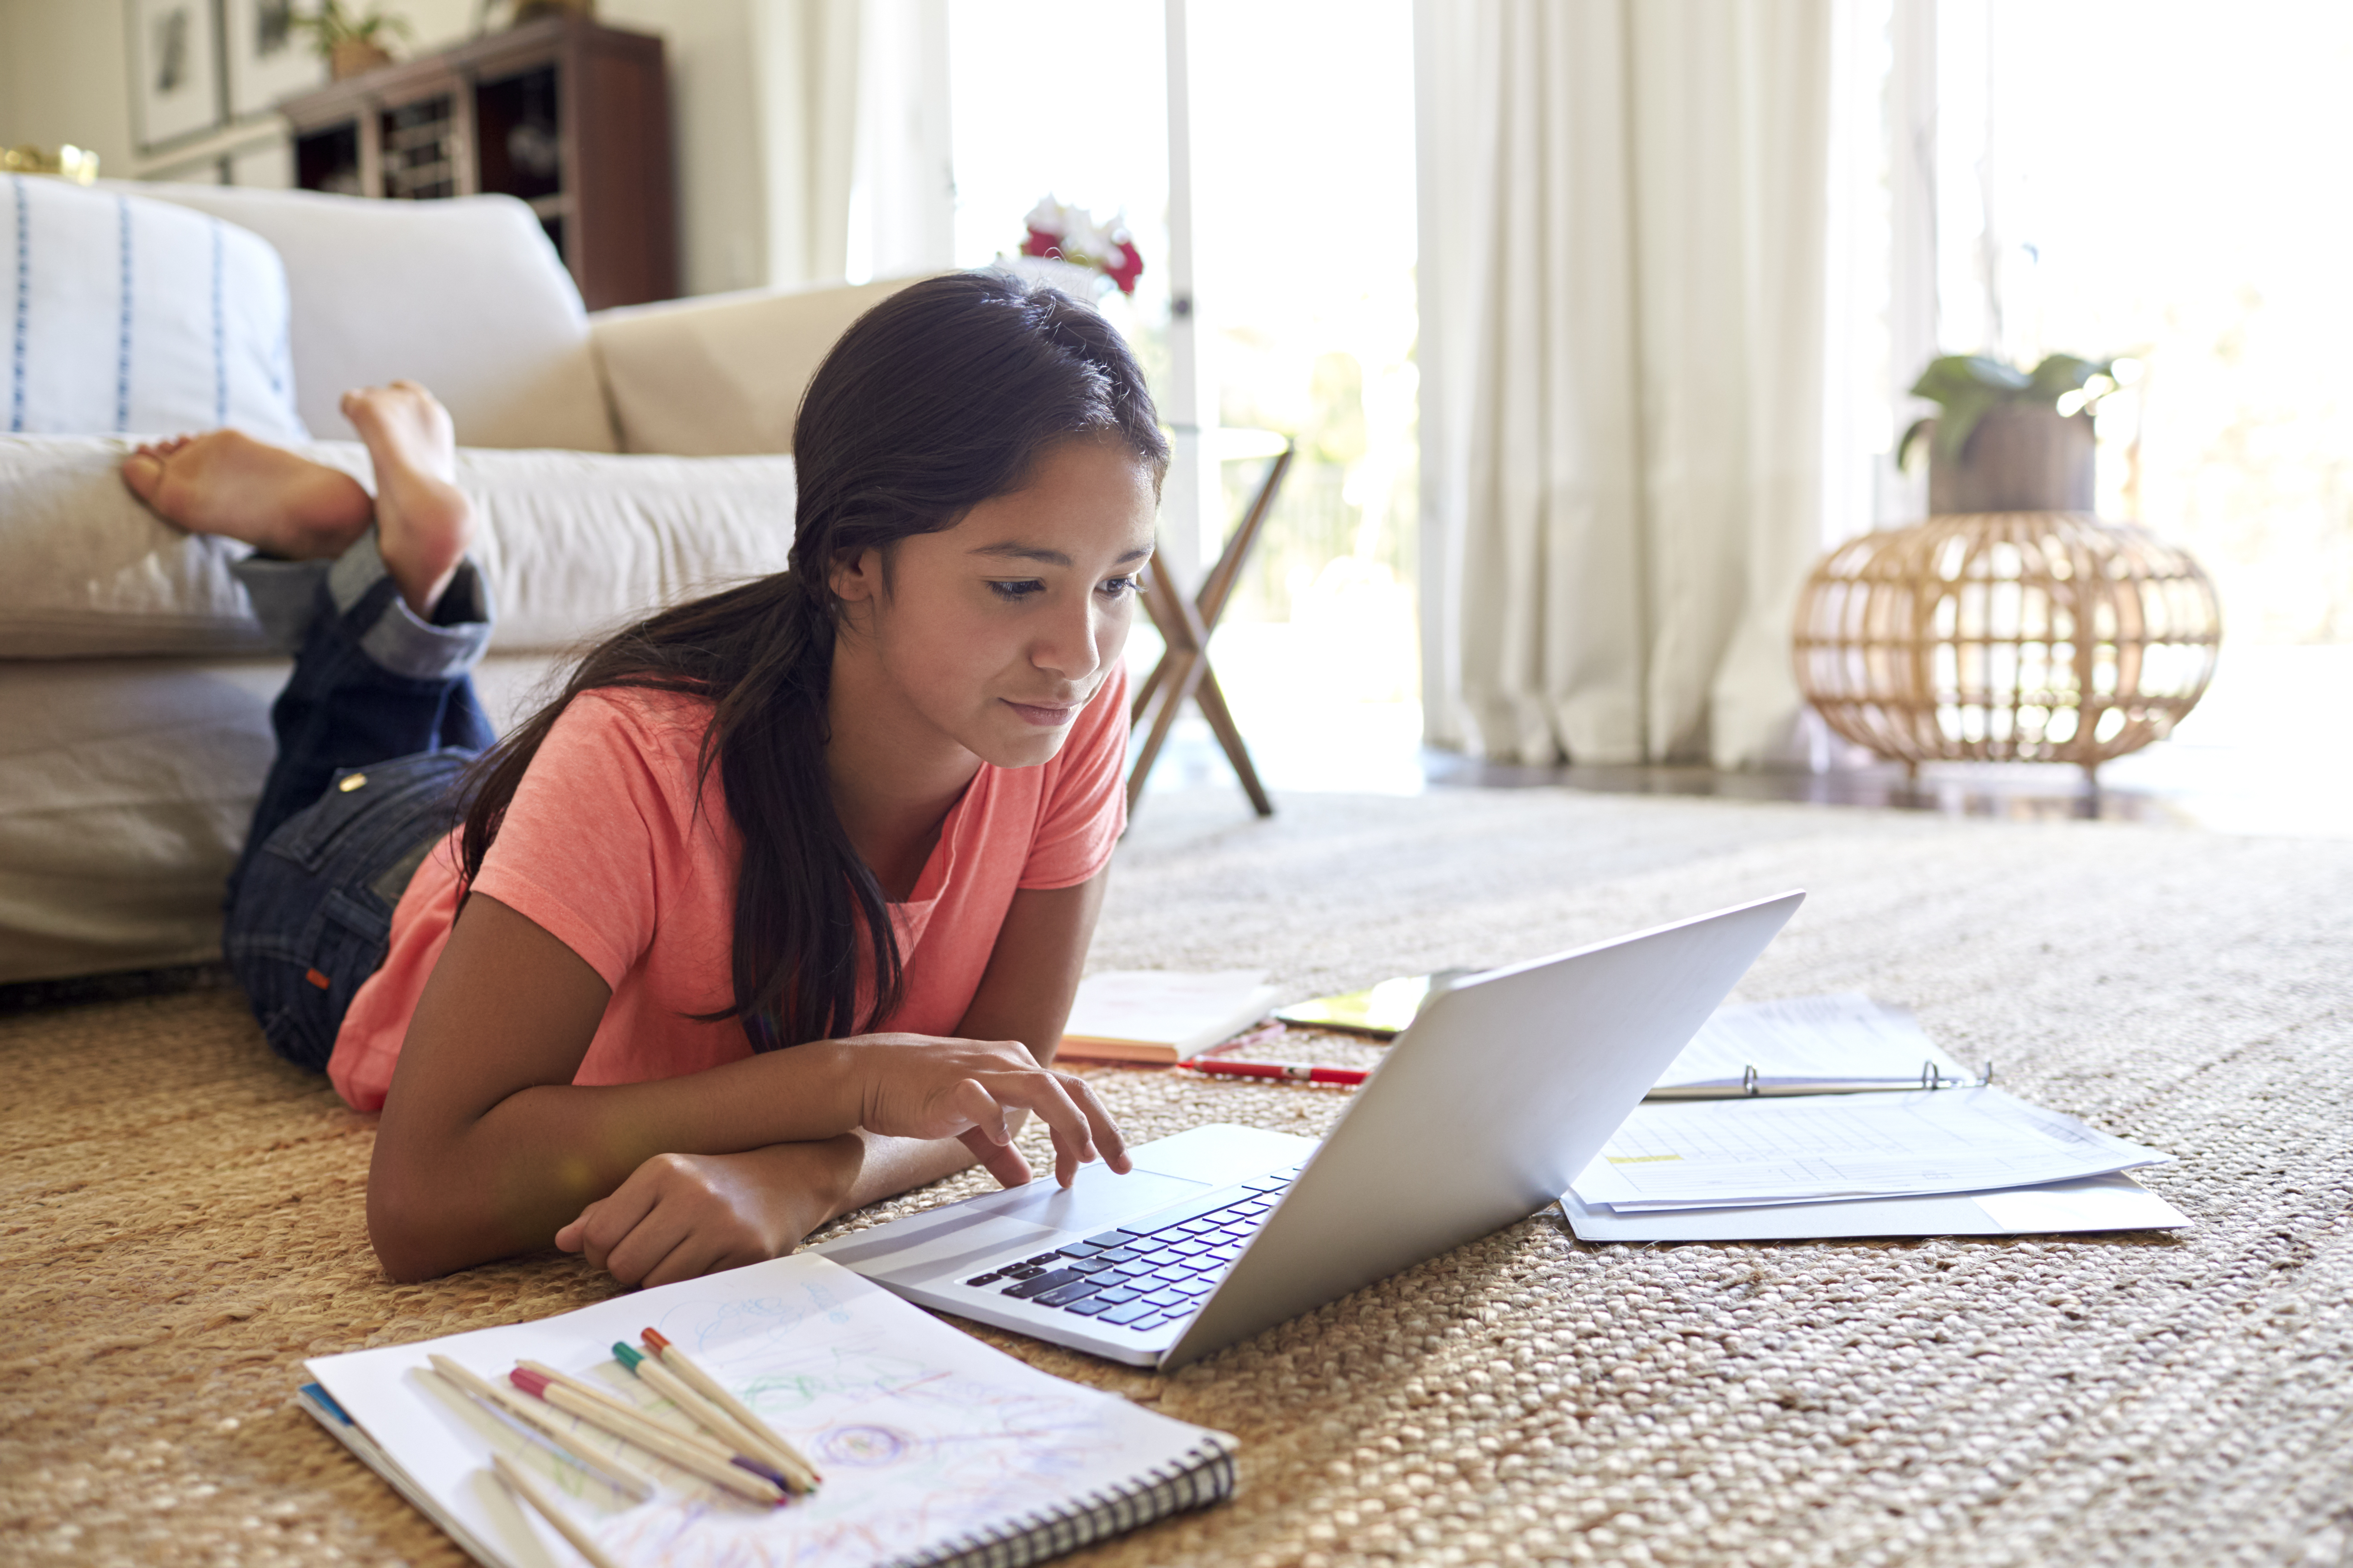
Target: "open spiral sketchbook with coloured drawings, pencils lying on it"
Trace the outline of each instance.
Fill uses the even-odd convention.
[[[612,1356],[645,1328],[809,1455],[824,1486],[784,1507],[751,1505],[567,1420],[569,1441],[659,1483],[635,1502],[428,1361],[438,1352],[499,1382],[518,1361],[544,1361],[664,1413]],[[1235,1486],[1231,1436],[1040,1373],[809,1253],[308,1368],[318,1382],[301,1389],[304,1408],[492,1568],[581,1561],[492,1474],[492,1453],[633,1568],[1016,1568],[1221,1502]]]

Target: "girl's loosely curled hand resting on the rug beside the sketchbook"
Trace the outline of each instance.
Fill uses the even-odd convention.
[[[555,1246],[586,1253],[624,1286],[765,1262],[833,1218],[856,1164],[856,1138],[748,1154],[656,1154],[555,1232]]]

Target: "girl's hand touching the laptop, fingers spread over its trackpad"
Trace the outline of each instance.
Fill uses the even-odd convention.
[[[1007,1187],[1031,1178],[1012,1147],[1012,1112],[1035,1112],[1054,1135],[1054,1180],[1101,1157],[1125,1173],[1127,1140],[1087,1081],[1040,1067],[1019,1039],[852,1034],[845,1053],[859,1126],[887,1138],[960,1138]]]

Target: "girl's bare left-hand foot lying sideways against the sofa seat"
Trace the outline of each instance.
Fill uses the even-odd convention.
[[[348,473],[238,430],[148,442],[122,458],[122,482],[165,522],[294,562],[341,555],[374,510]]]

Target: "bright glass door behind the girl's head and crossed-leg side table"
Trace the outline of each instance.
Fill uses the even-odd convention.
[[[1419,785],[1414,614],[1414,75],[1409,0],[1179,0],[1188,38],[1200,374],[1224,423],[1299,458],[1212,658],[1278,788]],[[1172,407],[1169,59],[1162,0],[1045,0],[1019,26],[948,7],[955,261],[1021,242],[1042,195],[1125,209],[1146,270],[1106,313]],[[1212,527],[1264,463],[1224,468]],[[1214,555],[1217,541],[1207,541]],[[1132,661],[1158,639],[1139,628]],[[1372,769],[1372,773],[1367,773]],[[1195,717],[1160,783],[1224,773]],[[1409,778],[1407,778],[1409,773]]]

